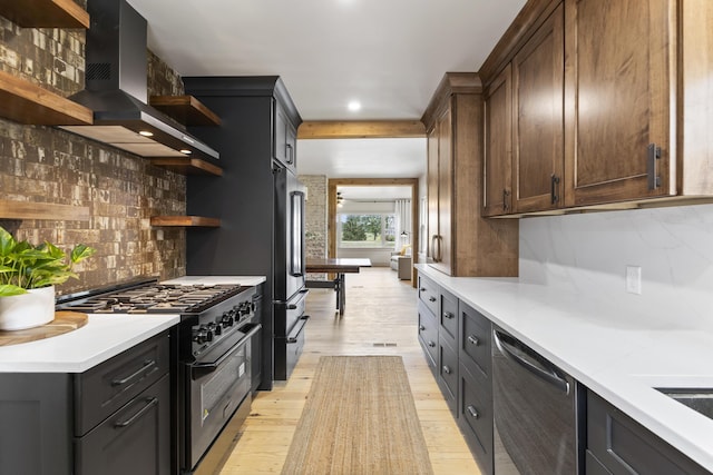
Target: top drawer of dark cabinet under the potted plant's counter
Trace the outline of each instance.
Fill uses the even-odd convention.
[[[75,435],[80,436],[168,373],[168,331],[89,369],[75,379]]]

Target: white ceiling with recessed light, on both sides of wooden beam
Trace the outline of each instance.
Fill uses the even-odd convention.
[[[89,0],[91,1],[91,0]],[[182,76],[282,77],[303,120],[420,119],[477,71],[525,0],[128,0]],[[346,105],[359,100],[362,109]],[[301,140],[299,172],[418,177],[423,139]]]

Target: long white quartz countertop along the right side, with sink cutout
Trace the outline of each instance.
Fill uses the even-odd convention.
[[[417,268],[713,472],[713,420],[655,389],[713,388],[713,331],[605,295]]]

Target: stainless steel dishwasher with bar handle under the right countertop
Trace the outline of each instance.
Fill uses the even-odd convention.
[[[495,474],[584,473],[576,380],[495,325],[492,340]]]

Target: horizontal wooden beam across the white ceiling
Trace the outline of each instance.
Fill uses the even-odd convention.
[[[305,121],[299,139],[372,139],[426,137],[420,120]]]

